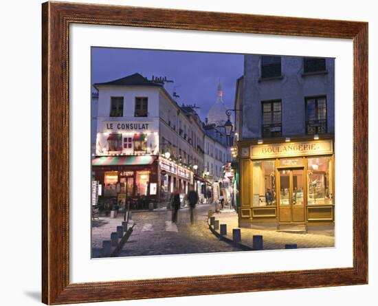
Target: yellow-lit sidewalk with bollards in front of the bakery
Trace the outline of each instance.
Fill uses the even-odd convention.
[[[228,239],[232,239],[232,229],[238,228],[238,214],[235,211],[221,212],[213,215],[219,220],[219,225],[227,224]],[[219,232],[219,230],[217,230]],[[335,231],[333,228],[310,230],[309,232],[278,232],[271,229],[241,228],[241,243],[252,248],[252,237],[263,236],[264,250],[285,249],[285,244],[297,244],[297,248],[333,248],[335,246]]]

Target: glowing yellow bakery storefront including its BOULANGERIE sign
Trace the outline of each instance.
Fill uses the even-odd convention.
[[[333,137],[301,140],[239,144],[240,226],[333,225]]]

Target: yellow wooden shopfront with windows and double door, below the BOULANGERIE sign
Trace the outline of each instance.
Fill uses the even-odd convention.
[[[242,159],[239,222],[333,224],[333,156]]]

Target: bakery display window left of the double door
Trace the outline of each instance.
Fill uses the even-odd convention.
[[[253,206],[276,205],[276,176],[274,160],[253,162]]]

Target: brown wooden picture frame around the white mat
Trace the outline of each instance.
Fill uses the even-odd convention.
[[[42,6],[42,300],[67,304],[366,284],[368,282],[368,23],[128,6]],[[353,267],[69,282],[69,25],[128,25],[353,39]]]

